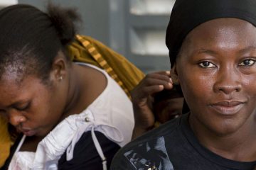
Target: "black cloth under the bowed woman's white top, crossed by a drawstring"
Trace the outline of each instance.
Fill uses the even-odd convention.
[[[95,131],[97,140],[100,142],[102,151],[107,158],[107,169],[110,169],[110,163],[114,154],[120,149],[119,145],[110,141],[101,132]],[[98,154],[96,147],[92,141],[91,132],[85,132],[80,140],[76,143],[73,159],[66,161],[66,152],[59,159],[58,169],[72,170],[100,170],[102,168],[102,160]]]

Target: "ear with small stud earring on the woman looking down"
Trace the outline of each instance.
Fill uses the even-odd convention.
[[[58,56],[55,57],[52,64],[52,70],[50,72],[51,79],[62,81],[67,74],[67,61],[62,52],[58,52]]]

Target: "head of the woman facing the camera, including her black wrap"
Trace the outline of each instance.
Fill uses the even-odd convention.
[[[192,127],[228,135],[253,125],[255,8],[253,0],[176,1],[166,45]]]

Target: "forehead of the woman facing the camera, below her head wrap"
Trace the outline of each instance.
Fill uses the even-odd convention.
[[[216,48],[242,50],[256,47],[256,28],[238,18],[218,18],[197,26],[186,36],[181,52]]]

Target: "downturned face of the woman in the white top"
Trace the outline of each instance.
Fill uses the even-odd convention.
[[[24,77],[21,82],[16,78],[15,73],[6,74],[0,81],[0,113],[25,135],[47,135],[63,115],[63,82],[52,80],[46,85],[34,76]]]

